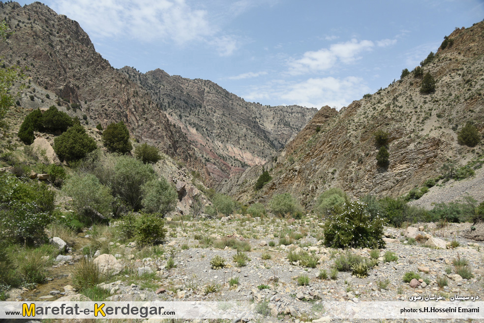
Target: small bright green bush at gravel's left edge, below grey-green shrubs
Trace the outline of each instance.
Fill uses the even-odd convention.
[[[143,247],[161,243],[166,234],[164,225],[160,214],[140,213],[136,220],[136,244]]]

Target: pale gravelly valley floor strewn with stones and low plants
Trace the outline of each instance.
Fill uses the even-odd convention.
[[[380,250],[379,257],[373,255],[378,264],[368,271],[366,278],[338,272],[335,279],[320,279],[322,270],[330,276],[335,260],[347,251],[322,246],[322,224],[315,217],[295,221],[232,215],[220,220],[179,220],[167,221],[165,244],[141,250],[134,242],[117,242],[109,229],[101,233],[88,231],[79,238],[83,245],[95,240],[101,246],[94,258],[100,268],[112,274],[99,285],[110,292],[107,300],[250,301],[252,305],[242,318],[245,322],[300,323],[331,321],[324,317],[319,301],[408,301],[411,296],[435,294],[446,300],[455,294],[484,297],[484,243],[462,237],[470,229],[469,223],[440,229],[434,224],[406,229],[388,227],[386,248]],[[292,243],[281,245],[280,237]],[[244,266],[239,267],[233,261],[238,253],[233,249],[235,243],[241,250],[250,248],[245,252],[250,260]],[[318,259],[316,268],[303,267],[297,261],[291,263],[287,258],[289,251],[312,254]],[[370,249],[349,252],[371,258]],[[393,252],[396,260],[385,262],[387,252]],[[68,279],[68,271],[74,269],[80,258],[78,254],[82,255],[81,250],[73,247],[58,257],[49,273],[54,279],[37,287],[41,292],[13,290],[9,300],[80,297]],[[225,268],[212,269],[211,260],[215,256],[225,259]],[[472,278],[456,274],[455,259],[468,261]],[[66,270],[67,274],[56,275]],[[403,281],[409,271],[421,276],[421,283],[414,282],[416,288]],[[307,276],[308,285],[300,286],[301,276]],[[63,279],[60,284],[63,286],[55,285],[59,279]],[[439,280],[446,280],[448,286],[439,287]]]

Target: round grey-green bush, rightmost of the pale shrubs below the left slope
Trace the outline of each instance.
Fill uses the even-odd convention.
[[[163,176],[143,184],[141,192],[143,196],[141,204],[145,212],[166,215],[177,205],[177,191]]]

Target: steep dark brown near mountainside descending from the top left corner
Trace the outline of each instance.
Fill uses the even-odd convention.
[[[208,176],[181,129],[170,123],[146,91],[94,50],[77,22],[40,2],[24,7],[1,3],[0,19],[13,32],[0,44],[3,60],[7,65],[27,67],[30,85],[21,98],[23,106],[57,104],[72,116],[82,119],[86,115],[91,127],[122,120],[139,141],[157,146]]]

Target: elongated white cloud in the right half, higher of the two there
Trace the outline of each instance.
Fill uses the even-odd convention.
[[[374,43],[371,40],[352,39],[344,43],[333,44],[329,49],[305,52],[301,59],[289,62],[289,74],[324,71],[333,67],[338,60],[344,64],[350,64],[361,58],[360,53],[370,51],[373,46]]]

